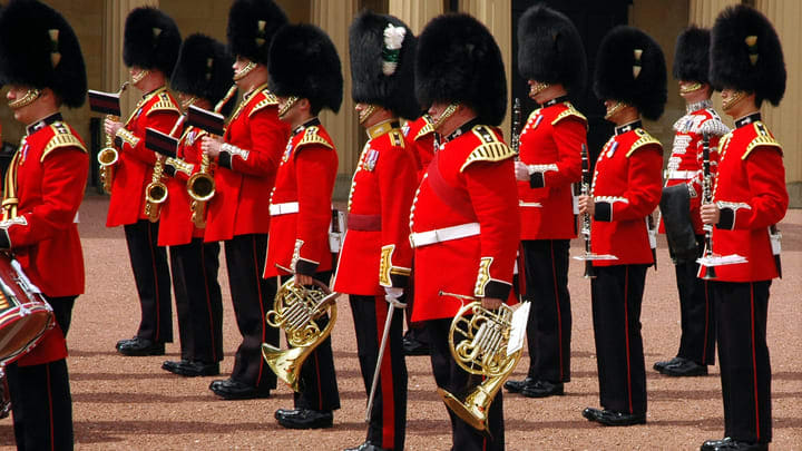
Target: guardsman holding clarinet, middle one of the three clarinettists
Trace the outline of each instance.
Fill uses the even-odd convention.
[[[594,75],[596,97],[615,135],[596,160],[590,196],[579,213],[593,218],[591,252],[617,259],[594,261],[590,282],[602,409],[583,416],[604,425],[646,422],[646,370],[640,305],[646,269],[655,264],[648,218],[661,198],[663,146],[643,129],[666,101],[663,51],[643,31],[620,26],[602,40]]]

